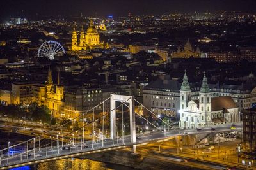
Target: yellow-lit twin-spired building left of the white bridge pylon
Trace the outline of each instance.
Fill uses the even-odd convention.
[[[61,118],[64,113],[64,87],[60,85],[60,74],[58,73],[58,84],[52,81],[51,70],[48,72],[46,85],[45,105],[51,110],[53,117]]]

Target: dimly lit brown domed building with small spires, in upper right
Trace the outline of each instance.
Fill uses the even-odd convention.
[[[200,57],[200,54],[201,52],[199,47],[194,51],[188,39],[187,43],[184,45],[184,49],[181,50],[180,47],[178,47],[177,52],[172,53],[172,58]]]

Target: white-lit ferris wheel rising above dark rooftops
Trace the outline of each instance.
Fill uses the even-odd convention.
[[[54,60],[54,56],[63,56],[63,54],[65,50],[57,41],[45,41],[37,52],[38,57],[48,57],[50,60]]]

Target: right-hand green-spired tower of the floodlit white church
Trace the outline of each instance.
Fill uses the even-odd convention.
[[[211,90],[209,88],[205,73],[199,92],[199,110],[201,113],[202,122],[205,122],[207,125],[211,125]]]

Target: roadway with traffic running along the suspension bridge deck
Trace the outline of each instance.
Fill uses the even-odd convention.
[[[241,127],[241,124],[237,124],[237,130],[239,130]],[[216,127],[216,130],[214,132],[228,132],[230,131],[230,125],[219,125]],[[185,130],[173,130],[169,132],[155,132],[153,134],[147,135],[147,136],[138,136],[137,137],[137,142],[136,144],[141,144],[141,143],[147,143],[150,141],[157,141],[161,139],[165,139],[168,137],[172,137],[178,134],[183,134]],[[186,130],[188,134],[198,134],[198,133],[209,133],[211,131],[211,127],[204,128],[200,131],[196,131],[194,129],[191,130]],[[55,142],[56,143],[56,142]],[[61,141],[59,141],[59,144],[61,144]],[[106,148],[115,148],[118,149],[118,146],[130,146],[133,145],[134,143],[131,143],[129,136],[124,137],[124,143],[123,139],[115,139],[115,140],[110,140],[106,139],[106,141],[99,141],[97,143],[93,143],[93,141],[86,141],[86,146],[88,148],[83,148],[81,145],[78,143],[74,143],[74,146],[72,145],[73,143],[70,143],[69,149],[62,150],[61,145],[59,147],[53,146],[53,147],[45,147],[45,148],[35,148],[35,150],[29,150],[30,156],[28,152],[23,152],[19,153],[17,155],[3,155],[1,157],[1,167],[6,167],[6,166],[11,166],[15,164],[22,164],[26,162],[33,162],[35,160],[51,160],[50,158],[58,157],[61,158],[64,155],[69,155],[69,157],[73,157],[75,153],[86,153],[86,152],[92,152],[95,150],[103,150]],[[103,147],[102,147],[103,146]],[[26,156],[28,155],[28,156]],[[72,156],[73,155],[73,156]]]

